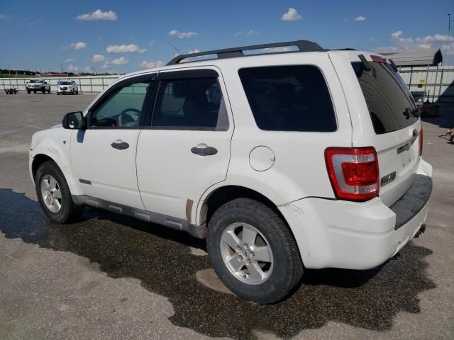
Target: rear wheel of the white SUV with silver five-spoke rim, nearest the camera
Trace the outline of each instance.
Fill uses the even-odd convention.
[[[303,273],[287,225],[267,205],[249,198],[237,198],[216,210],[206,246],[218,277],[245,300],[262,304],[282,300]]]

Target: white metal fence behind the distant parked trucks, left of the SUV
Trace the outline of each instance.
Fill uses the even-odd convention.
[[[44,79],[50,84],[50,91],[57,91],[57,81],[71,79],[79,86],[79,93],[92,94],[101,92],[118,77],[120,76],[0,78],[0,88],[6,89],[16,86],[19,91],[26,91],[28,81],[31,79]]]

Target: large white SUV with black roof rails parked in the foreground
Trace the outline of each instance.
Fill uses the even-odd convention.
[[[418,113],[369,52],[300,40],[180,55],[35,133],[30,172],[50,220],[91,205],[206,237],[223,283],[271,303],[304,268],[373,268],[423,232]]]

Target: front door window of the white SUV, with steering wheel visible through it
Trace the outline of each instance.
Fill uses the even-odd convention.
[[[133,128],[139,125],[150,81],[124,86],[94,111],[90,127]]]

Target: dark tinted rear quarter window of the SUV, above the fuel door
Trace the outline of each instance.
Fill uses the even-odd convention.
[[[260,129],[336,131],[331,96],[317,67],[252,67],[238,73]]]

